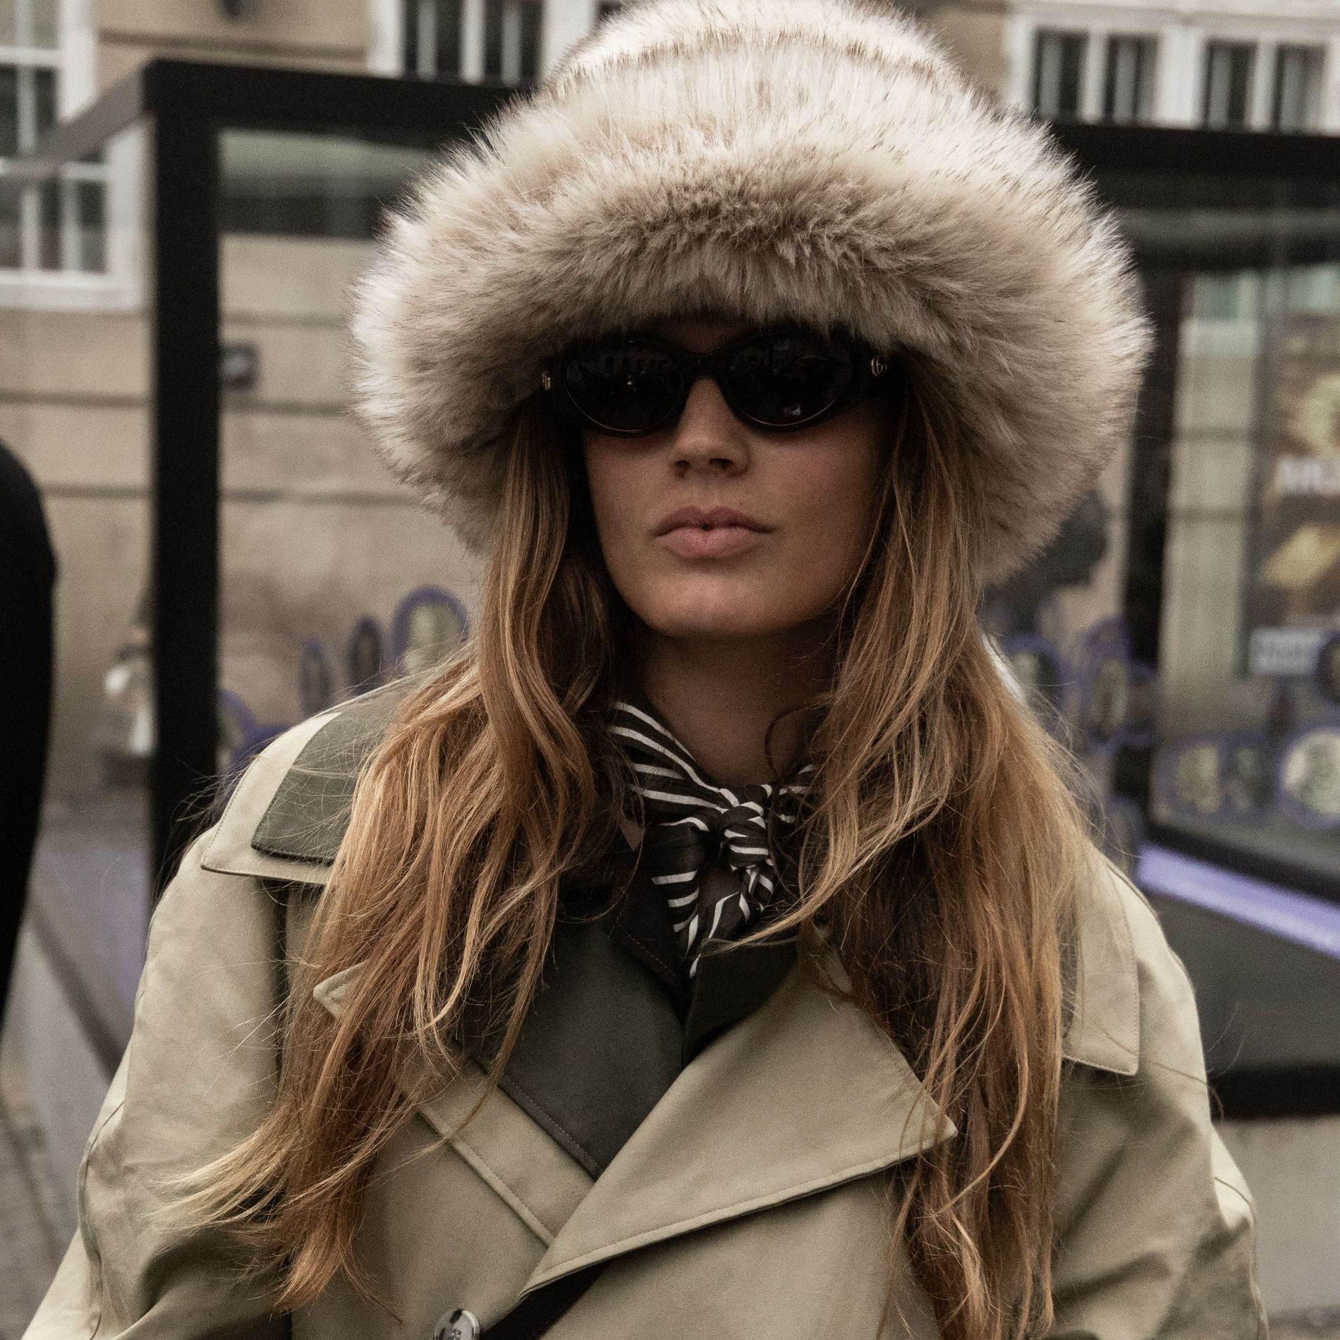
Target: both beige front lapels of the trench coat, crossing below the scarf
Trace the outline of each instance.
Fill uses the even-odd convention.
[[[338,1014],[356,973],[319,984],[318,1000]],[[421,1114],[547,1244],[528,1290],[955,1134],[892,1043],[799,967],[689,1063],[594,1182],[498,1091],[462,1128],[480,1092],[470,1067]]]

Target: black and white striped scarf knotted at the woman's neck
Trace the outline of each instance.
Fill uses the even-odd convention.
[[[631,702],[614,704],[608,729],[632,766],[647,816],[643,859],[670,904],[691,978],[710,942],[746,934],[780,896],[768,817],[793,824],[804,784],[718,787],[654,716]],[[811,770],[807,765],[797,777]],[[717,851],[738,876],[738,887],[724,898],[701,887],[702,870]]]

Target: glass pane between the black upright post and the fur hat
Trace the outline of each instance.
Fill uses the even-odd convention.
[[[426,149],[221,135],[221,762],[460,645],[476,564],[347,413],[348,288]]]

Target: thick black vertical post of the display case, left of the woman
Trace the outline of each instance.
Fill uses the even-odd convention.
[[[155,891],[216,770],[218,610],[218,142],[204,118],[151,127]]]

